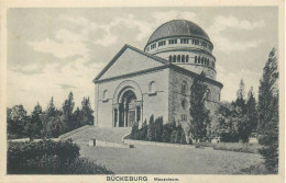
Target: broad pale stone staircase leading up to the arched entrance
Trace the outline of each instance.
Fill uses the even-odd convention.
[[[123,142],[123,137],[131,133],[131,128],[108,128],[98,126],[84,126],[67,134],[59,136],[61,140],[73,139],[75,142],[88,142],[97,139],[108,142]]]

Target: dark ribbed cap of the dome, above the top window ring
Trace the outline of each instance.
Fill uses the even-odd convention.
[[[148,38],[148,43],[170,36],[198,36],[208,41],[208,34],[197,24],[186,20],[173,20],[161,25]]]

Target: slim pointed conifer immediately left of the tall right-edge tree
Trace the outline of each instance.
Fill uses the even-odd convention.
[[[246,101],[246,115],[248,115],[248,123],[250,124],[251,131],[256,131],[257,128],[257,108],[256,108],[256,100],[253,94],[253,87],[251,87],[248,101]]]

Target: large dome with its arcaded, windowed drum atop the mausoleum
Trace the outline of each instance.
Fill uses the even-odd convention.
[[[161,25],[148,38],[144,52],[164,58],[196,73],[216,80],[216,57],[208,34],[187,20],[173,20]]]

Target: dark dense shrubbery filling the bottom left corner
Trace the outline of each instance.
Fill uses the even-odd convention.
[[[72,140],[9,142],[7,162],[8,174],[111,173],[79,158],[79,147]]]

